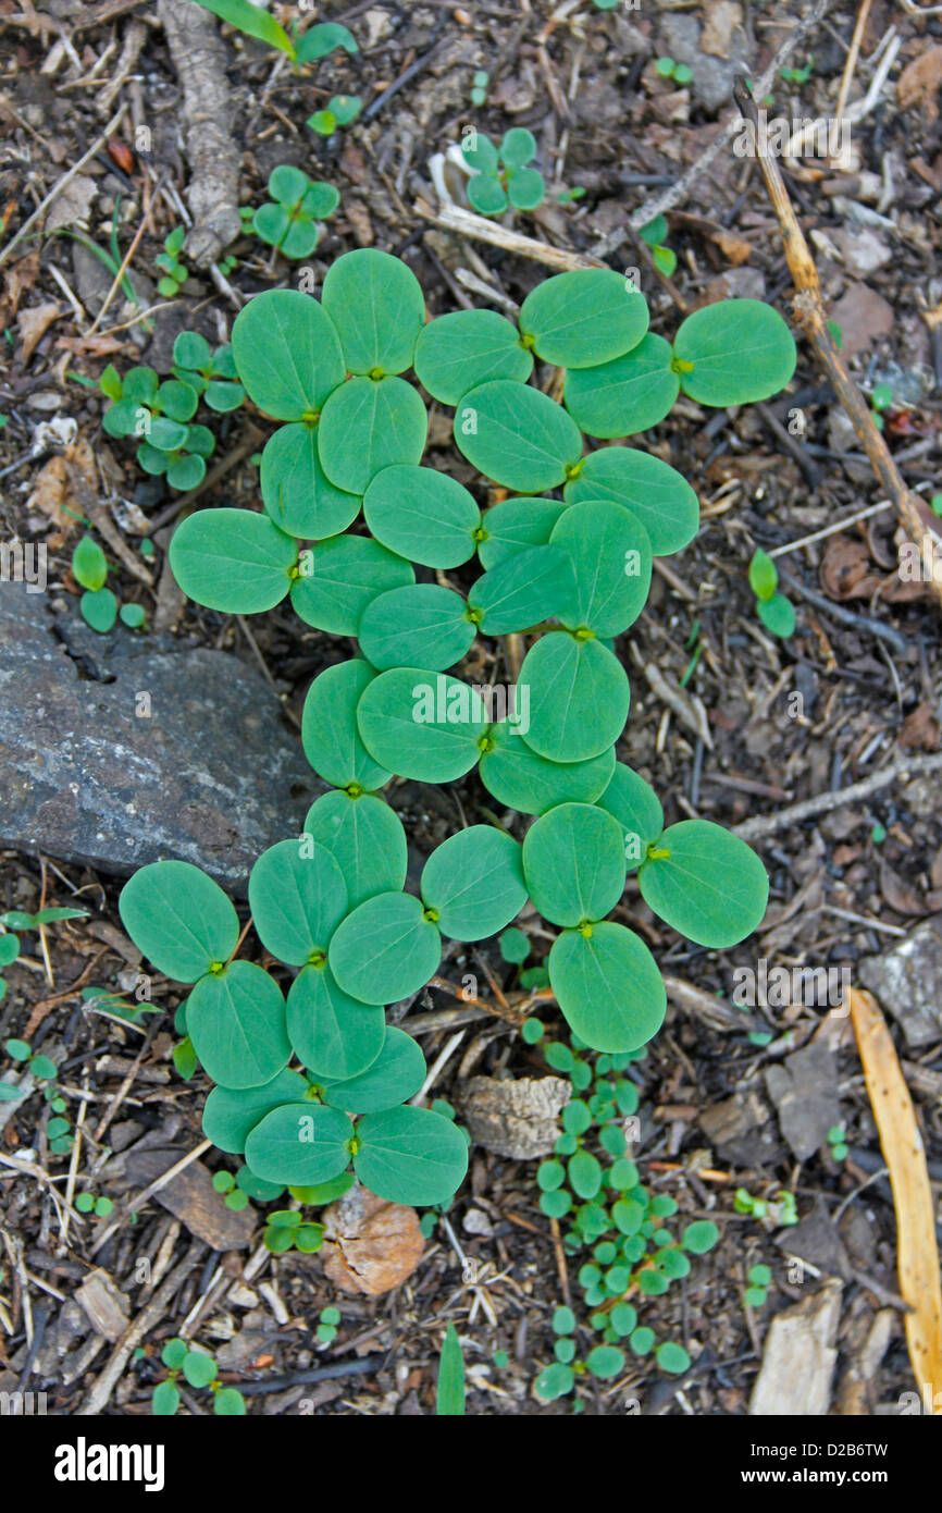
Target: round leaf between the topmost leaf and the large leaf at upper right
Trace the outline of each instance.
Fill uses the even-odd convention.
[[[520,333],[496,310],[455,310],[429,321],[416,345],[416,374],[432,399],[458,404],[491,378],[526,383],[534,371],[532,354]]]

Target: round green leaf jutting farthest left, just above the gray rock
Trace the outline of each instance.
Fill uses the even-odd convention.
[[[225,614],[274,610],[292,586],[296,560],[298,543],[253,510],[198,510],[169,543],[183,593]]]

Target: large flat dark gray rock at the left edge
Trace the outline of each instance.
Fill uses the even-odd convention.
[[[325,791],[253,667],[53,620],[24,583],[0,583],[0,846],[119,876],[174,856],[240,893]]]

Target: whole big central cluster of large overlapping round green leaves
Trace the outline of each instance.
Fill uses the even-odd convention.
[[[500,935],[529,899],[556,938],[522,983],[549,983],[570,1029],[620,1056],[656,1033],[667,1006],[646,943],[608,917],[629,868],[652,911],[697,944],[736,944],[762,920],[756,853],[709,822],[665,828],[653,790],[615,760],[629,687],[611,642],[644,607],[653,555],[694,537],[697,496],[640,449],[584,457],[570,410],[526,381],[534,357],[570,380],[597,375],[647,325],[644,298],[606,269],[538,284],[519,325],[490,310],[426,324],[408,266],[373,248],[337,259],[319,301],[266,290],[233,325],[239,381],[280,422],[262,454],[265,511],[192,513],[169,563],[219,613],[287,599],[304,625],[355,637],[357,655],[311,682],[301,720],[333,791],[251,871],[257,946],[186,862],[144,867],[119,909],[142,955],[189,986],[177,1029],[216,1083],[206,1135],[260,1182],[358,1179],[395,1203],[451,1201],[467,1138],[451,1111],[410,1103],[425,1059],[384,1015],[435,976],[446,940]],[[756,301],[696,312],[664,346],[705,404],[767,398],[795,363],[785,322]],[[410,372],[455,409],[464,460],[520,498],[482,514],[470,489],[422,466],[428,415]],[[360,514],[364,528],[349,530]],[[475,557],[466,595],[416,583],[414,564],[446,572]],[[532,645],[520,705],[449,670],[478,638],[473,655],[490,643],[496,657],[494,638],[522,631]],[[405,829],[384,790],[473,769],[511,811],[505,828],[451,835],[408,891]],[[262,949],[286,970],[253,959]]]

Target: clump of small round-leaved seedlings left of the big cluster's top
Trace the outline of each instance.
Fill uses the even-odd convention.
[[[192,337],[194,333],[186,334]],[[213,365],[216,360],[225,365],[224,353],[225,348],[219,348]],[[163,383],[153,368],[132,368],[121,378],[109,365],[101,374],[101,392],[112,401],[101,419],[103,430],[107,436],[138,437],[138,463],[147,474],[166,477],[171,489],[189,490],[203,483],[206,458],[216,445],[209,427],[191,424],[200,402],[200,383],[201,374],[195,369],[187,371],[187,381],[168,378]],[[239,387],[231,384],[233,390]],[[222,384],[213,378],[213,393],[221,392]]]

